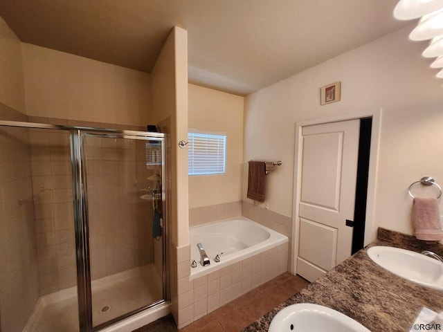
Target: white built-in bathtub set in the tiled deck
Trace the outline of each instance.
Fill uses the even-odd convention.
[[[244,216],[192,227],[191,259],[195,259],[197,268],[191,268],[190,280],[287,242],[288,237]],[[201,243],[206,251],[209,266],[201,266],[197,243]],[[218,263],[214,261],[217,254],[220,257]]]

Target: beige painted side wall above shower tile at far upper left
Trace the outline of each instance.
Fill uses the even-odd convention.
[[[0,17],[0,102],[26,114],[21,42]]]

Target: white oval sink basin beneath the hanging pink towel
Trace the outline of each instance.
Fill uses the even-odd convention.
[[[374,246],[368,256],[382,268],[416,284],[443,291],[443,263],[410,250]]]

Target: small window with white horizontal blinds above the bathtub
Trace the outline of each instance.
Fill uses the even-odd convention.
[[[188,133],[188,175],[224,174],[226,135],[190,131]]]

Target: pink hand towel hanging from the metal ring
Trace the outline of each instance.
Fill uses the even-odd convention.
[[[437,199],[414,199],[412,212],[415,237],[419,240],[442,239],[442,225]]]

